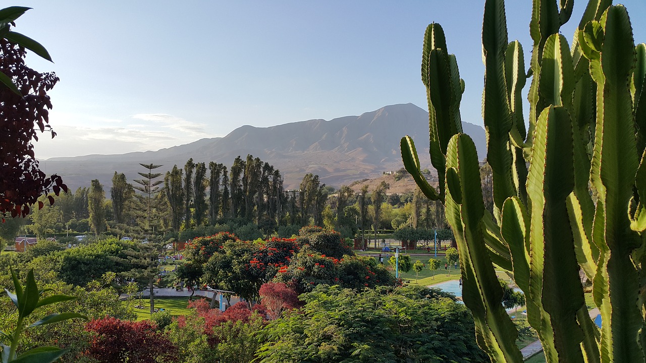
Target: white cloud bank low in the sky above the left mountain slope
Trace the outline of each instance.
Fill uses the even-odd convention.
[[[169,114],[134,114],[124,119],[83,123],[78,121],[82,118],[79,116],[67,118],[64,123],[52,121],[57,136],[43,137],[35,143],[37,158],[159,150],[217,136],[209,134],[202,123]]]

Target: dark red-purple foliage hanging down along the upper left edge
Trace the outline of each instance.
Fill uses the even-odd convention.
[[[47,177],[39,169],[32,140],[37,131],[56,132],[48,125],[52,103],[47,91],[59,80],[54,73],[41,74],[26,67],[25,50],[0,39],[0,71],[14,81],[23,97],[0,87],[0,217],[26,216],[38,197],[53,191],[67,192],[60,176]],[[49,197],[49,203],[54,198]],[[39,208],[43,203],[39,203]]]

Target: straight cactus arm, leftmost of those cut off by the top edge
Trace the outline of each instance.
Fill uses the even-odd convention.
[[[503,208],[505,199],[516,195],[512,182],[512,152],[508,147],[512,114],[505,81],[507,49],[505,2],[487,0],[483,20],[483,58],[485,90],[483,120],[487,138],[487,161],[494,180],[495,210]]]

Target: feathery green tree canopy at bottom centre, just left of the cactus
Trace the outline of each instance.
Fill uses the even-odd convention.
[[[426,287],[320,285],[270,322],[260,362],[486,362],[466,307]]]

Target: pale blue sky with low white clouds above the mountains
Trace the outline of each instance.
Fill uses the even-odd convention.
[[[636,43],[645,42],[646,1],[623,4]],[[14,30],[54,60],[28,54],[26,64],[60,78],[48,92],[57,136],[36,143],[39,159],[158,150],[242,125],[329,120],[397,103],[426,109],[420,63],[432,22],[443,26],[466,83],[463,121],[482,125],[484,0],[12,5],[33,8]],[[576,1],[561,28],[570,41],[584,7]],[[507,1],[506,11],[509,39],[529,59],[531,1]]]

